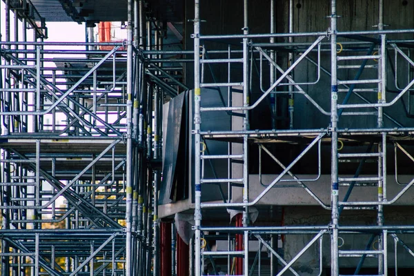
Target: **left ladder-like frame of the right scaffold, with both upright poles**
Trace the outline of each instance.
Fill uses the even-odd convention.
[[[248,34],[248,26],[247,26],[247,1],[244,0],[244,34]],[[221,108],[228,108],[227,112],[230,115],[230,119],[234,116],[242,116],[243,118],[243,130],[248,130],[248,110],[246,107],[249,106],[249,64],[248,64],[248,54],[249,54],[249,46],[248,46],[248,39],[244,38],[242,43],[242,57],[234,58],[230,55],[230,49],[228,52],[227,59],[206,59],[206,55],[204,52],[204,48],[200,48],[200,40],[202,40],[202,36],[200,35],[200,18],[199,18],[199,1],[195,1],[195,34],[194,37],[194,48],[195,49],[202,49],[201,52],[198,50],[195,51],[195,91],[194,91],[194,99],[195,99],[195,115],[194,115],[194,124],[195,124],[195,275],[201,276],[204,275],[204,268],[201,266],[202,259],[204,257],[224,257],[226,256],[228,261],[234,263],[234,260],[237,259],[237,263],[235,266],[235,270],[233,273],[236,275],[244,275],[247,276],[249,273],[249,265],[248,265],[248,231],[244,231],[243,233],[239,234],[239,237],[242,237],[242,245],[238,245],[237,248],[233,246],[233,248],[229,248],[229,250],[223,251],[211,251],[205,250],[201,248],[201,208],[208,208],[208,207],[222,207],[226,208],[226,200],[222,201],[222,203],[217,204],[208,204],[208,206],[203,205],[201,203],[201,188],[208,187],[211,184],[228,184],[229,193],[233,186],[239,186],[243,188],[243,202],[242,202],[242,225],[248,226],[248,135],[240,135],[239,138],[242,138],[242,150],[241,152],[233,152],[232,150],[232,142],[228,141],[228,152],[227,154],[221,155],[208,155],[208,150],[206,144],[204,142],[204,138],[209,130],[201,132],[201,112],[205,112],[205,114],[215,112],[214,108],[208,108],[203,110],[201,107],[201,92],[207,92],[201,90],[201,88],[215,88],[217,90],[227,88],[228,92],[228,103],[227,106],[221,106]],[[217,37],[219,38],[219,37]],[[211,63],[218,63],[218,64],[226,64],[228,66],[228,78],[226,81],[219,82],[206,82],[204,81],[204,65],[211,64]],[[233,81],[230,79],[230,68],[234,63],[241,63],[243,66],[243,74],[242,78]],[[231,107],[231,95],[233,93],[233,88],[237,87],[238,90],[242,90],[243,95],[243,108],[232,108]],[[219,91],[221,92],[221,90]],[[233,112],[235,111],[235,112]],[[231,131],[231,129],[230,129]],[[206,165],[206,161],[209,163],[214,159],[224,159],[227,160],[228,164],[228,175],[227,177],[215,177],[206,178],[204,176],[204,168]],[[231,172],[232,164],[239,163],[243,165],[242,173],[240,176],[233,177]],[[230,200],[228,197],[227,201]],[[242,258],[242,259],[241,259]],[[242,265],[240,265],[242,262]],[[235,267],[233,266],[233,268]],[[232,265],[228,264],[228,268],[232,267]],[[231,270],[232,268],[230,268]],[[217,272],[217,271],[216,271]],[[218,273],[217,273],[218,274]],[[228,271],[230,274],[230,271]]]

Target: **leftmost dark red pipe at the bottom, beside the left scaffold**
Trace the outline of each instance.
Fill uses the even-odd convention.
[[[160,276],[172,275],[172,259],[171,259],[171,224],[161,222],[159,224],[159,273]]]

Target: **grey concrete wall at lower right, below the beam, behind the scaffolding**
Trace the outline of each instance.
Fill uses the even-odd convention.
[[[387,225],[399,224],[413,224],[414,215],[410,208],[407,207],[390,207],[384,210],[385,221]],[[286,206],[284,208],[284,225],[286,226],[308,226],[308,225],[327,225],[331,220],[331,213],[326,210],[321,210],[317,207],[311,206]],[[350,221],[354,225],[373,225],[376,220],[376,211],[359,211],[357,215],[355,211],[344,210],[341,215],[341,225],[348,225]],[[284,235],[284,257],[288,262],[295,257],[308,242],[313,239],[315,235]],[[359,235],[339,235],[343,239],[343,245],[339,250],[365,250],[366,244],[370,239],[369,234]],[[408,247],[413,248],[414,236],[413,234],[397,234],[397,237],[402,239]],[[377,237],[374,239],[370,250],[377,248]],[[339,244],[342,242],[340,241]],[[394,239],[388,235],[388,267],[395,267],[395,250]],[[324,268],[329,268],[331,264],[331,241],[329,235],[324,235],[323,238],[323,253],[322,261]],[[359,262],[359,258],[340,257],[339,265],[342,268],[355,268]],[[410,255],[400,244],[397,246],[397,266],[399,268],[412,267],[413,256]],[[299,275],[318,275],[319,273],[319,242],[311,246],[306,253],[300,257],[295,265]],[[364,268],[376,268],[377,258],[368,257],[364,262]],[[344,274],[344,273],[342,273]],[[347,273],[348,274],[348,273]],[[289,274],[287,274],[289,275]],[[404,274],[403,274],[404,275]]]

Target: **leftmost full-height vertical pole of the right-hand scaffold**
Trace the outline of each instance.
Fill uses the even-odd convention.
[[[200,18],[199,18],[199,0],[194,1],[194,131],[195,131],[195,276],[201,276],[201,246],[200,246],[200,226],[201,226],[201,175],[200,175],[200,63],[199,63],[199,48],[200,48]]]

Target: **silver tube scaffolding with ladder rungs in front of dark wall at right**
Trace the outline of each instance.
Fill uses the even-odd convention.
[[[262,247],[266,247],[272,257],[270,260],[270,275],[284,275],[285,272],[290,270],[293,275],[301,275],[299,271],[293,269],[293,265],[306,250],[315,246],[319,248],[319,275],[322,274],[323,266],[331,267],[330,275],[344,274],[340,273],[340,262],[346,258],[359,258],[359,263],[355,269],[355,275],[359,274],[364,260],[367,257],[374,257],[377,259],[377,269],[375,275],[387,275],[388,269],[391,266],[388,264],[388,254],[391,254],[390,248],[388,248],[388,239],[394,240],[395,244],[398,243],[396,238],[398,234],[411,233],[413,228],[410,225],[390,225],[385,224],[384,221],[384,206],[390,206],[395,204],[404,193],[414,184],[414,179],[410,177],[408,183],[400,186],[400,190],[393,196],[387,194],[387,151],[390,145],[402,149],[410,159],[412,158],[408,150],[404,150],[404,147],[400,145],[400,139],[408,139],[409,133],[413,131],[413,128],[404,127],[399,121],[394,119],[392,115],[385,112],[385,108],[395,105],[397,101],[406,97],[409,94],[414,82],[411,77],[408,77],[408,81],[405,86],[398,87],[398,75],[401,69],[397,67],[397,61],[403,57],[404,62],[413,64],[407,52],[410,52],[408,44],[411,43],[411,39],[399,39],[398,34],[410,34],[413,29],[404,30],[384,30],[384,1],[378,2],[378,16],[377,16],[377,30],[351,30],[341,31],[337,28],[337,1],[331,1],[331,12],[329,19],[331,26],[328,30],[320,30],[319,32],[293,32],[293,1],[288,1],[288,32],[275,33],[273,24],[275,22],[275,1],[270,3],[271,12],[271,26],[270,34],[250,34],[248,26],[248,6],[253,5],[248,1],[243,1],[243,18],[244,26],[242,26],[242,34],[204,34],[203,30],[207,28],[201,27],[201,10],[203,8],[202,1],[195,1],[195,21],[194,21],[194,49],[201,48],[202,51],[195,51],[195,88],[194,88],[194,101],[195,101],[195,128],[193,130],[195,134],[195,275],[205,275],[206,268],[204,266],[204,260],[209,259],[210,262],[219,262],[219,259],[225,257],[227,259],[226,273],[231,275],[255,275],[255,266],[260,266],[260,251]],[[299,5],[299,4],[298,4]],[[208,30],[209,31],[209,30]],[[397,35],[396,35],[397,34]],[[390,37],[393,37],[392,39]],[[269,42],[264,43],[263,40],[268,39]],[[285,39],[288,39],[287,43]],[[229,43],[228,57],[211,57],[206,58],[205,53],[214,52],[214,49],[207,48],[204,43],[210,41],[231,41]],[[256,42],[258,41],[258,42]],[[297,41],[297,42],[293,42]],[[306,41],[306,42],[299,42]],[[223,42],[223,43],[226,43]],[[237,48],[239,51],[230,50],[230,45],[242,45]],[[404,44],[408,43],[408,44]],[[213,44],[213,43],[212,43]],[[394,50],[394,55],[389,51]],[[277,55],[283,55],[283,52],[288,52],[287,66],[283,69],[280,59],[276,59]],[[297,55],[299,53],[299,55]],[[342,54],[341,54],[342,53]],[[313,57],[316,55],[317,60]],[[400,56],[401,55],[401,56]],[[323,67],[324,61],[321,61],[321,56],[327,59],[331,63],[330,70]],[[391,61],[389,61],[389,60]],[[393,68],[392,59],[395,59],[395,67]],[[263,63],[270,63],[270,81],[268,88],[263,88],[264,81],[262,79],[264,70]],[[254,101],[252,99],[252,86],[250,83],[253,79],[253,68],[257,61],[260,62],[260,85],[262,89],[262,95],[257,96]],[[317,69],[316,81],[295,81],[293,72],[295,68],[299,67],[301,62],[308,62],[315,66]],[[372,62],[374,61],[374,62]],[[210,63],[221,63],[223,67],[228,68],[227,80],[224,81],[204,81],[206,76],[206,70],[204,66]],[[235,64],[242,64],[242,73],[233,74],[231,70],[237,68]],[[344,70],[348,73],[344,73]],[[357,70],[357,71],[355,71]],[[364,70],[371,70],[368,74],[364,75],[366,79],[362,79],[362,72]],[[391,88],[387,86],[387,72],[388,70],[394,71],[395,86],[398,87],[395,95],[389,91]],[[397,72],[399,71],[399,72]],[[314,85],[321,85],[321,74],[324,72],[328,75],[331,86],[325,89],[330,90],[330,93],[326,93],[326,97],[330,98],[330,110],[324,108],[322,103],[313,98],[311,93],[306,92],[306,88]],[[355,73],[356,72],[356,73]],[[402,73],[403,75],[406,72]],[[408,73],[409,74],[409,73]],[[343,76],[348,79],[339,79]],[[349,77],[351,76],[351,77]],[[355,77],[354,77],[355,76]],[[288,89],[283,89],[288,86]],[[322,85],[321,85],[322,86]],[[208,95],[206,88],[215,88],[224,95],[228,95],[228,100],[223,101],[222,105],[211,106],[211,104],[202,102],[201,98],[204,95]],[[224,88],[224,89],[223,89]],[[226,92],[224,92],[226,90]],[[242,101],[235,104],[236,98],[235,92],[242,93]],[[322,90],[323,92],[324,90]],[[340,95],[342,93],[342,95]],[[277,124],[277,109],[280,108],[277,105],[277,99],[282,99],[281,95],[288,95],[288,110],[286,115],[288,117],[288,129],[278,129]],[[302,95],[306,98],[310,106],[316,108],[319,112],[319,116],[327,116],[330,118],[329,124],[326,124],[323,128],[319,129],[306,129],[295,128],[293,121],[294,114],[294,96],[299,97]],[[350,100],[351,95],[355,95],[353,101]],[[353,96],[353,97],[355,97]],[[221,96],[222,97],[222,96]],[[411,96],[408,95],[408,101]],[[260,107],[262,101],[270,98],[270,110],[272,110],[272,128],[269,130],[255,129],[250,130],[250,112],[257,110]],[[387,99],[388,98],[388,99]],[[339,101],[343,99],[343,101]],[[373,100],[374,99],[374,100]],[[232,101],[233,100],[233,101]],[[263,108],[263,107],[262,107]],[[302,110],[301,110],[302,111]],[[204,113],[221,112],[221,115],[228,115],[233,117],[242,117],[242,124],[239,124],[239,129],[219,130],[218,128],[203,128],[203,120],[201,116]],[[226,113],[225,113],[226,112]],[[218,116],[218,115],[217,115]],[[346,124],[340,126],[339,123],[344,116],[348,118],[360,118],[360,117],[374,117],[376,118],[376,124],[360,124],[358,128],[348,128]],[[386,128],[384,120],[389,119],[393,124],[393,127]],[[365,121],[363,121],[365,123]],[[279,124],[280,126],[280,124]],[[345,126],[345,127],[344,127]],[[404,135],[402,133],[405,133]],[[408,135],[408,136],[407,136]],[[228,143],[228,152],[222,155],[210,155],[206,151],[206,143],[211,139],[217,139]],[[284,143],[302,143],[306,144],[302,152],[290,161],[290,164],[283,164],[279,161],[273,152],[268,150],[269,142],[284,142]],[[270,180],[270,183],[262,186],[262,190],[255,195],[249,195],[252,187],[249,186],[249,164],[250,157],[249,141],[254,141],[259,145],[260,152],[264,151],[276,162],[281,168],[282,172],[275,175],[274,179]],[[353,147],[348,152],[341,151],[344,148],[344,144],[349,144],[352,141]],[[238,150],[235,150],[234,144],[239,144]],[[321,177],[321,148],[322,145],[331,146],[331,202],[327,203],[319,199],[314,191],[308,188],[308,184],[312,181],[317,181]],[[368,145],[368,147],[366,147]],[[407,143],[407,146],[409,142]],[[388,147],[387,147],[388,146]],[[301,179],[293,173],[293,166],[295,166],[303,157],[310,152],[313,148],[317,148],[317,154],[315,157],[319,161],[318,164],[318,176],[315,179]],[[367,149],[365,149],[367,148]],[[397,155],[397,151],[395,151]],[[207,161],[211,159],[225,159],[228,160],[228,167],[230,168],[228,175],[217,176],[213,178],[206,177],[204,172],[208,167]],[[370,175],[362,175],[362,168],[364,163],[371,161],[375,165],[375,170],[370,171]],[[413,160],[413,159],[411,159]],[[355,172],[355,175],[350,176],[349,170],[341,170],[343,163],[359,162],[359,166]],[[234,164],[242,164],[242,168],[238,170],[234,169]],[[262,163],[259,167],[262,168]],[[233,168],[233,169],[231,169]],[[259,168],[259,170],[260,170]],[[397,164],[395,162],[395,168]],[[233,175],[232,175],[233,174]],[[237,175],[236,175],[237,174]],[[261,172],[259,172],[262,178]],[[348,174],[348,175],[344,175]],[[290,176],[286,179],[285,176]],[[293,184],[292,184],[293,182]],[[262,183],[262,180],[261,180]],[[228,193],[230,190],[233,192],[237,189],[240,197],[236,197],[238,201],[233,201],[235,197],[231,195],[228,199],[223,201],[215,201],[213,203],[201,200],[202,191],[208,191],[207,187],[211,187],[211,184],[227,184]],[[339,187],[348,187],[346,193],[344,193],[343,199],[339,197]],[[297,187],[303,188],[308,195],[310,195],[322,208],[331,211],[331,222],[327,225],[312,225],[312,226],[251,226],[249,209],[253,206],[260,206],[260,201],[268,194],[271,193],[273,188],[282,190],[283,188]],[[366,197],[355,199],[350,197],[352,190],[355,187],[361,187],[362,190],[359,193],[364,193]],[[369,188],[375,187],[375,189]],[[375,192],[373,192],[375,191]],[[281,192],[282,193],[282,192]],[[356,192],[354,192],[355,194]],[[368,193],[373,193],[370,197]],[[274,195],[274,194],[273,194]],[[371,198],[371,199],[368,199]],[[262,202],[262,204],[264,204]],[[278,204],[277,201],[273,201],[273,204]],[[219,210],[236,209],[242,213],[238,217],[239,221],[236,221],[235,226],[229,227],[212,227],[206,226],[208,219],[203,219],[205,214],[213,212],[211,209],[221,208]],[[377,219],[375,224],[357,226],[353,221],[342,221],[339,224],[342,210],[356,210],[363,212],[363,210],[375,210],[377,213]],[[351,224],[351,225],[349,225]],[[206,235],[208,239],[215,239],[215,235],[227,233],[228,235],[228,249],[227,250],[210,250],[206,247]],[[286,261],[277,252],[275,244],[273,242],[273,235],[311,235],[311,239],[305,244],[302,250],[296,255],[290,256],[290,259]],[[352,244],[347,244],[346,249],[342,249],[344,246],[344,237],[348,235],[354,235],[366,239],[366,248],[352,248]],[[329,236],[331,239],[331,250],[328,252],[328,256],[331,261],[322,264],[323,250],[322,250],[322,238]],[[368,237],[367,237],[368,236]],[[369,237],[371,236],[371,237]],[[217,236],[217,239],[218,236]],[[249,249],[250,241],[257,241],[259,246],[256,246],[257,253],[255,259],[249,258],[252,255],[252,250]],[[319,245],[318,245],[319,243]],[[351,246],[351,248],[350,248]],[[409,254],[412,255],[411,249],[406,247]],[[280,270],[276,270],[275,261],[277,259]],[[252,262],[253,261],[253,262]],[[395,251],[395,271],[397,271],[397,253]],[[219,275],[217,268],[213,264],[214,275]],[[326,272],[324,272],[326,273]],[[395,272],[397,273],[397,272]],[[211,274],[210,274],[211,275]],[[260,268],[259,268],[260,275]],[[289,274],[290,275],[290,274]],[[308,274],[306,274],[308,275]],[[317,275],[317,274],[315,274]]]

